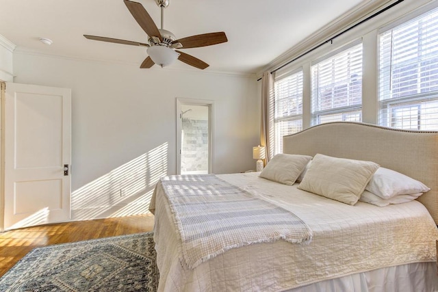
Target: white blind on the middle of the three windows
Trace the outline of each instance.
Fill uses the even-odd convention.
[[[312,124],[362,120],[362,44],[311,67]]]

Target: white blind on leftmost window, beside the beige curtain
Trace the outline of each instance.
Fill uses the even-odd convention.
[[[274,155],[283,152],[283,136],[302,130],[302,71],[274,82]]]

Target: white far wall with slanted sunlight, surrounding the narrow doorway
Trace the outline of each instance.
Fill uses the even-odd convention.
[[[159,176],[176,173],[176,98],[215,103],[214,172],[254,168],[253,77],[139,69],[14,53],[14,82],[72,89],[73,220],[144,213]]]

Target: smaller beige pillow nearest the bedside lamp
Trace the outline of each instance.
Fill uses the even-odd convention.
[[[270,181],[293,185],[307,163],[312,159],[307,155],[277,154],[263,168],[260,177]]]

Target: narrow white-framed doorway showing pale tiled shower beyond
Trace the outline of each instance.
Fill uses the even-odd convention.
[[[212,102],[177,99],[178,174],[211,173]]]

